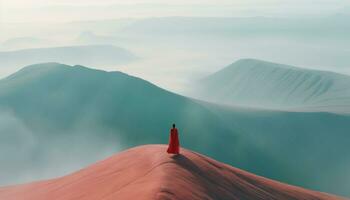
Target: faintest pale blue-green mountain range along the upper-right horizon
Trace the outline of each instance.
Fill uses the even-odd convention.
[[[153,17],[135,20],[123,27],[120,33],[144,36],[225,37],[225,36],[303,36],[309,38],[329,36],[346,38],[349,26],[346,15],[327,17]],[[322,22],[323,26],[319,26]],[[317,32],[318,34],[314,34]]]

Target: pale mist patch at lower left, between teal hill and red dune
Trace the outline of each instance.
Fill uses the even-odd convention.
[[[112,133],[100,137],[98,132],[103,130],[77,128],[56,136],[39,133],[27,127],[11,111],[1,109],[0,184],[66,175],[124,148],[122,144],[118,145],[115,131],[113,137]]]

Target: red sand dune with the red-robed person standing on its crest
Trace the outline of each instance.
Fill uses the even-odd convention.
[[[1,200],[340,199],[282,184],[182,149],[129,149],[76,173],[0,188]]]

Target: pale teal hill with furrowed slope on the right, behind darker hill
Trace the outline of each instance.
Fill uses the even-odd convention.
[[[350,112],[350,76],[243,59],[200,80],[194,96],[226,105]]]

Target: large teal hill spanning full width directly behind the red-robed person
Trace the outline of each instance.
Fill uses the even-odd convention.
[[[0,80],[0,111],[1,184],[63,175],[121,149],[167,143],[176,123],[184,147],[258,175],[350,196],[345,115],[223,107],[121,72],[58,63]]]

